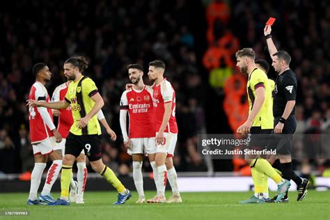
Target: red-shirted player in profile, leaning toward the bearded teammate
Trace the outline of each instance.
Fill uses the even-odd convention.
[[[173,196],[168,203],[182,203],[178,190],[178,176],[173,166],[173,155],[178,140],[178,125],[175,119],[175,91],[171,83],[164,79],[165,63],[152,61],[149,63],[148,77],[154,81],[152,85],[153,115],[156,129],[156,156],[158,181],[157,196],[148,203],[164,203],[166,178],[171,184]],[[166,162],[166,164],[165,164]]]

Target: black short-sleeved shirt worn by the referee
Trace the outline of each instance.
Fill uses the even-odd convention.
[[[297,95],[297,79],[296,74],[289,69],[279,74],[275,81],[274,90],[274,117],[281,117],[283,115],[285,105],[290,100],[296,100]],[[294,108],[290,115],[294,114]]]

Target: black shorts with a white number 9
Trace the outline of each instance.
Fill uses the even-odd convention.
[[[100,135],[75,135],[70,132],[65,142],[65,155],[78,157],[83,149],[90,162],[95,162],[98,159],[101,159]]]

